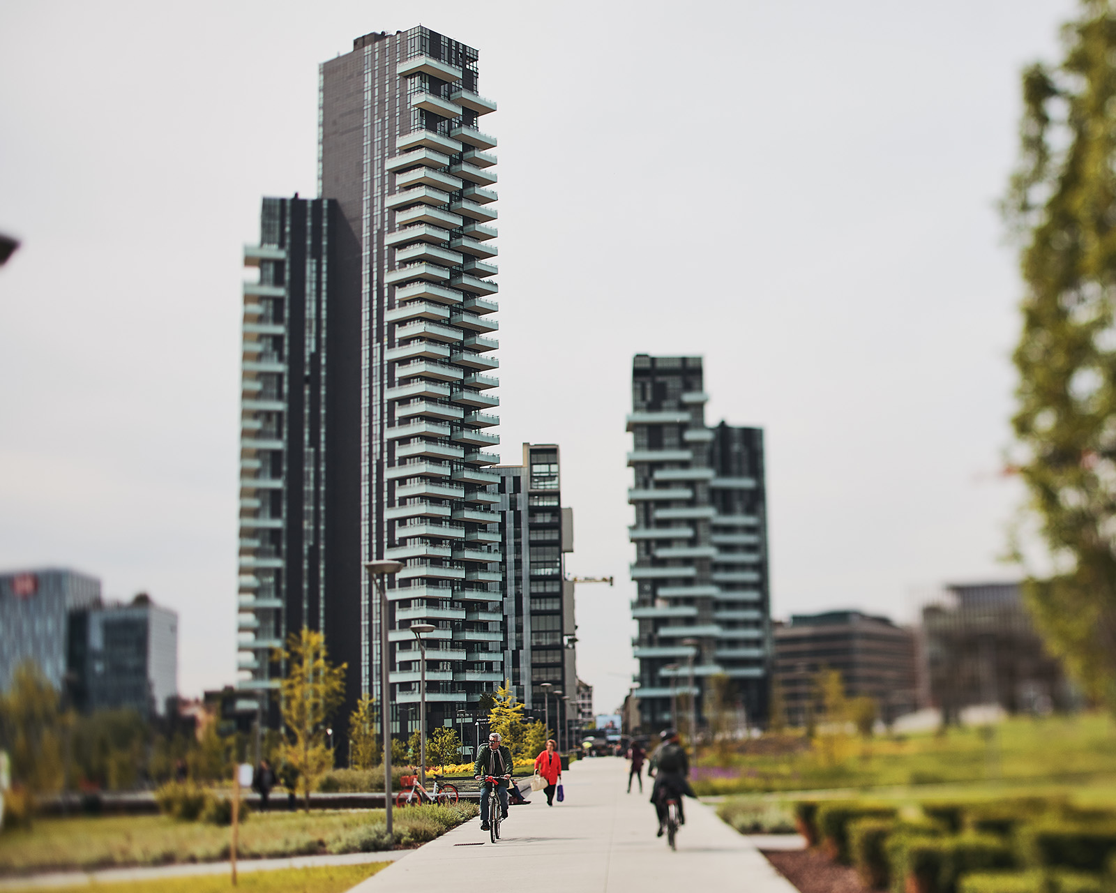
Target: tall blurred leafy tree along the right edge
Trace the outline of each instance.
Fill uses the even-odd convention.
[[[1030,609],[1070,673],[1116,710],[1114,0],[1083,0],[1062,35],[1060,65],[1023,73],[1003,202],[1024,282],[1013,470],[1054,567],[1029,573]]]

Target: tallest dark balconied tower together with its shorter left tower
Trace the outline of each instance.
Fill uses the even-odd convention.
[[[319,69],[321,198],[266,200],[261,243],[246,249],[261,275],[244,291],[241,705],[275,688],[267,655],[286,634],[321,630],[348,664],[341,752],[348,713],[378,691],[381,624],[400,734],[419,723],[412,623],[436,627],[427,728],[471,717],[503,673],[487,451],[497,160],[479,127],[496,104],[478,79],[477,50],[429,28],[354,40]],[[268,304],[282,316],[264,318]],[[386,617],[363,570],[374,558],[405,564]]]

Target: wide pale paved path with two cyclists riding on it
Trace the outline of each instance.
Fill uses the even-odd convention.
[[[511,808],[499,843],[489,843],[478,819],[468,822],[350,893],[435,893],[459,884],[531,893],[797,893],[754,844],[696,800],[685,803],[686,825],[672,853],[665,837],[655,837],[650,788],[625,794],[626,776],[616,757],[576,762],[564,779],[566,801],[547,807],[541,793],[531,795],[529,806]]]

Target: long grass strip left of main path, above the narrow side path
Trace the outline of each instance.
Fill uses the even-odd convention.
[[[413,846],[477,815],[471,803],[395,810],[394,843]],[[382,809],[256,814],[240,827],[240,858],[388,849]],[[0,835],[0,874],[62,868],[218,862],[229,857],[228,827],[166,816],[40,819]]]

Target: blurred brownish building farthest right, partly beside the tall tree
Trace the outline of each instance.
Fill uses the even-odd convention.
[[[1017,583],[953,584],[922,612],[931,702],[943,720],[977,704],[1010,713],[1068,709],[1061,664],[1042,645]]]

